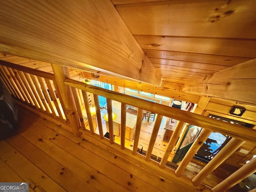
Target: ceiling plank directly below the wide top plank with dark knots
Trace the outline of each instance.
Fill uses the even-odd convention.
[[[143,49],[255,58],[255,40],[135,35]],[[226,63],[231,64],[231,63]]]

